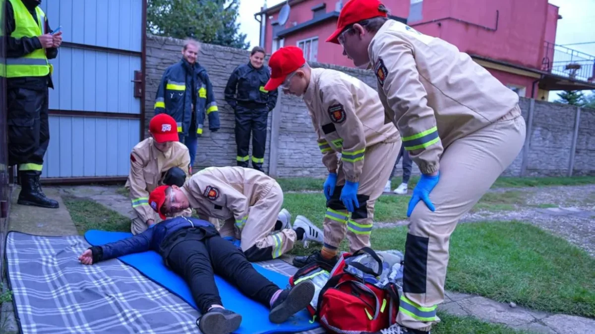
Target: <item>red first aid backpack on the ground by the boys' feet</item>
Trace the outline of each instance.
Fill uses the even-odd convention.
[[[362,263],[346,260],[350,257],[368,253],[378,263],[378,272]],[[398,287],[390,282],[382,288],[368,282],[364,277],[359,277],[347,272],[347,267],[352,266],[361,272],[379,277],[383,272],[383,261],[368,247],[362,248],[353,254],[343,254],[333,268],[328,264],[311,263],[298,270],[290,278],[293,286],[305,279],[315,279],[317,276],[328,273],[330,278],[320,288],[320,283],[315,284],[320,288],[318,298],[308,306],[308,311],[315,320],[319,320],[322,327],[328,332],[337,334],[351,334],[353,332],[378,332],[394,323],[399,310]],[[365,276],[365,275],[364,275]],[[314,304],[315,303],[315,307]]]

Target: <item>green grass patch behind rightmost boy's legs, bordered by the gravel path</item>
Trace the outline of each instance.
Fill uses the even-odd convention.
[[[403,251],[405,238],[405,226],[374,229],[371,244],[375,250]],[[347,251],[347,242],[341,248]],[[297,244],[293,253],[311,251]],[[595,259],[583,250],[533,225],[466,223],[450,239],[446,289],[534,310],[595,317],[594,269]]]

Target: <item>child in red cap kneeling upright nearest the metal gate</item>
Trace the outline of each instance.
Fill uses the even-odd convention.
[[[190,155],[180,143],[176,120],[170,115],[155,115],[149,122],[151,137],[136,144],[130,153],[130,174],[124,187],[130,190],[130,200],[136,217],[130,223],[130,232],[139,234],[158,223],[149,207],[149,193],[162,184],[181,187],[192,174]],[[180,213],[191,216],[192,209]]]

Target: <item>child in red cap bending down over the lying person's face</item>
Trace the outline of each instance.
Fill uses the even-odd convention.
[[[322,231],[307,219],[291,216],[283,205],[283,191],[274,178],[239,166],[209,167],[196,172],[183,185],[155,188],[149,203],[161,219],[188,208],[205,217],[223,220],[223,237],[240,240],[249,261],[276,259],[292,250],[293,243],[322,243]],[[157,207],[154,206],[157,204]]]

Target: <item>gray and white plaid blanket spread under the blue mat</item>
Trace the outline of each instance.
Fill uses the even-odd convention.
[[[82,266],[80,236],[7,236],[8,280],[21,333],[198,333],[199,312],[120,260]],[[290,276],[296,268],[259,263]],[[324,333],[317,329],[308,334]]]

